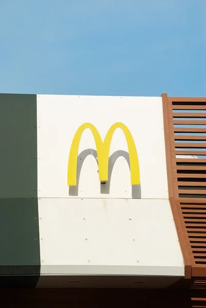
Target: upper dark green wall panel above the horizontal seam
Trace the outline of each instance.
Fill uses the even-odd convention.
[[[0,198],[37,196],[36,95],[0,94]]]

